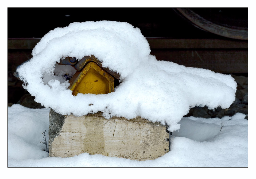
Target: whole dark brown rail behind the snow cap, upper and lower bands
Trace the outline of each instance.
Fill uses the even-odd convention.
[[[41,38],[8,39],[8,70],[32,57]],[[223,39],[147,38],[157,60],[219,73],[248,73],[248,41]],[[14,72],[14,71],[13,71]]]

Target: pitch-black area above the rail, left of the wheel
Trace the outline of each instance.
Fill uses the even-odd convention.
[[[41,38],[72,22],[102,20],[128,22],[145,37],[222,38],[193,26],[173,8],[8,8],[7,12],[8,38]]]

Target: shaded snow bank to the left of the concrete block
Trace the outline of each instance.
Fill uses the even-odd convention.
[[[49,127],[49,108],[29,109],[19,104],[8,107],[8,157],[39,159],[46,157],[42,134]],[[47,130],[48,131],[48,130]],[[48,141],[48,135],[47,135]]]

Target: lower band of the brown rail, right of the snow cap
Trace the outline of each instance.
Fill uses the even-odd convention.
[[[219,73],[248,73],[247,50],[169,50],[154,49],[157,60],[186,67],[205,68]]]

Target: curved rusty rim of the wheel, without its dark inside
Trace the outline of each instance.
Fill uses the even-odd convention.
[[[196,27],[203,29],[205,31],[239,40],[248,40],[248,29],[241,29],[237,27],[228,27],[218,25],[216,23],[210,22],[189,8],[175,8],[178,13],[187,18]]]

